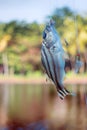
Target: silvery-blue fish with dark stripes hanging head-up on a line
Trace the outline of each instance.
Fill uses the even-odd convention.
[[[64,99],[67,95],[74,94],[67,90],[63,84],[65,77],[65,51],[54,25],[55,22],[51,19],[43,31],[41,61],[46,74],[56,86],[58,96]]]

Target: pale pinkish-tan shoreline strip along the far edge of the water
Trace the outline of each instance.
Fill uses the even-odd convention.
[[[50,81],[46,81],[46,77],[22,77],[22,76],[0,76],[0,84],[29,84],[29,85],[41,85],[51,84]],[[64,80],[64,84],[87,84],[87,77],[71,76]]]

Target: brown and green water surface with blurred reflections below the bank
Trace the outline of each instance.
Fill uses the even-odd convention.
[[[87,130],[87,86],[68,85],[64,100],[47,86],[1,85],[0,130]]]

